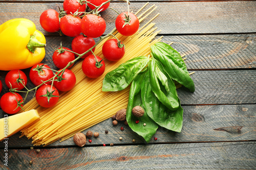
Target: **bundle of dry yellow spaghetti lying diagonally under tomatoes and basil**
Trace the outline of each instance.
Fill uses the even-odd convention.
[[[154,5],[138,16],[139,20],[142,21],[152,13],[156,9],[152,9],[153,7]],[[147,13],[148,11],[150,12]],[[147,14],[142,17],[145,13]],[[126,108],[130,88],[127,87],[116,92],[103,92],[101,90],[102,81],[108,72],[117,68],[121,63],[137,56],[150,54],[150,46],[162,38],[155,38],[159,31],[156,31],[157,28],[153,28],[155,23],[151,21],[156,16],[158,14],[145,23],[133,36],[125,37],[117,31],[113,33],[125,44],[125,55],[117,62],[104,59],[105,71],[102,76],[97,79],[87,78],[82,72],[82,61],[80,61],[71,68],[76,75],[75,87],[70,91],[62,92],[58,103],[54,107],[43,108],[37,104],[35,99],[29,101],[24,106],[24,109],[37,109],[40,118],[29,127],[23,129],[22,136],[25,135],[29,139],[32,138],[34,145],[48,145],[59,139],[63,141],[77,132],[86,130],[110,118],[118,110]],[[101,52],[102,45],[111,38],[113,37],[106,38],[96,46],[95,55],[104,58]]]

